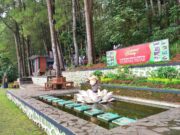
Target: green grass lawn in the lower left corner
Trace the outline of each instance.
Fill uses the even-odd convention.
[[[0,89],[0,135],[45,135]]]

